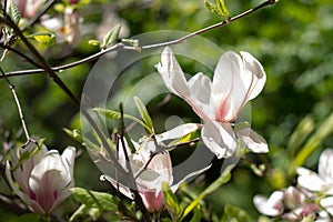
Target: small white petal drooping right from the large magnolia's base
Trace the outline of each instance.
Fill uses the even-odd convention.
[[[269,152],[269,147],[265,139],[263,139],[251,128],[241,129],[236,132],[236,134],[240,138],[241,142],[252,152],[255,153]]]

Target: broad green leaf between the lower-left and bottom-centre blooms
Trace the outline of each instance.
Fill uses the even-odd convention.
[[[89,191],[82,188],[71,189],[73,195],[88,208],[103,211],[117,211],[119,199],[104,192]]]

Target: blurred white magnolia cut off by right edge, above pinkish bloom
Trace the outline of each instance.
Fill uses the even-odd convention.
[[[319,173],[305,168],[299,168],[297,182],[310,191],[321,191],[325,194],[333,194],[333,150],[326,149],[322,152],[317,167]]]

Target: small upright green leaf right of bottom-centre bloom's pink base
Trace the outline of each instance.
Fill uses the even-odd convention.
[[[183,214],[183,208],[179,204],[176,196],[172,193],[168,183],[163,182],[162,188],[165,198],[165,205],[173,219],[172,221],[181,221],[180,219]]]

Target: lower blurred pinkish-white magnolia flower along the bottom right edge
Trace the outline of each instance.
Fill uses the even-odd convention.
[[[289,221],[300,219],[316,219],[321,209],[314,202],[306,200],[307,193],[303,190],[289,186],[282,191],[274,191],[269,199],[255,195],[253,203],[264,215],[282,218]]]

